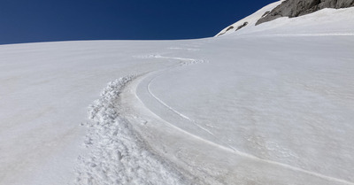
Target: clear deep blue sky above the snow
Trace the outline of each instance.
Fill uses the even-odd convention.
[[[275,0],[0,0],[0,44],[191,39]]]

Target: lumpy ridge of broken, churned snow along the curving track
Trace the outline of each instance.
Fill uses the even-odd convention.
[[[119,95],[135,76],[108,83],[89,108],[89,152],[79,158],[74,184],[189,184],[175,166],[154,154],[119,114]]]

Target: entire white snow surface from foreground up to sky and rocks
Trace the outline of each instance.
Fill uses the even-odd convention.
[[[0,184],[354,184],[353,10],[2,45]]]

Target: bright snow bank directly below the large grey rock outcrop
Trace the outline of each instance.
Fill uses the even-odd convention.
[[[350,22],[354,7],[344,9],[323,9],[298,18],[280,18],[245,27],[234,35],[354,35]]]

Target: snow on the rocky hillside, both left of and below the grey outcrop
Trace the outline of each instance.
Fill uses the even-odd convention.
[[[274,19],[255,26],[266,12],[272,11],[273,8],[281,4],[278,1],[273,4],[266,5],[258,12],[241,19],[229,27],[224,28],[216,36],[221,35],[353,35],[351,24],[354,16],[354,8],[343,9],[323,9],[297,18],[283,17]],[[247,22],[245,27],[240,27]],[[240,29],[237,30],[237,28]]]

